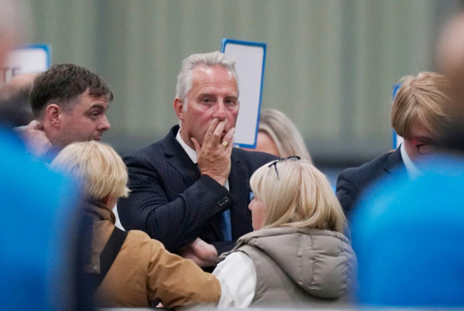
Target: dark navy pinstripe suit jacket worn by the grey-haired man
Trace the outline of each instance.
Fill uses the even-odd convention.
[[[271,154],[233,148],[230,192],[214,179],[201,175],[176,141],[178,126],[166,137],[123,157],[128,167],[129,197],[118,202],[126,229],[139,229],[174,252],[201,237],[221,252],[221,215],[231,211],[232,239],[253,231],[248,210],[250,177],[258,167],[276,159]]]

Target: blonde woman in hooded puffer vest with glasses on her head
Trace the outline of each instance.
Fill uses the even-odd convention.
[[[308,160],[291,157],[257,169],[250,184],[255,231],[213,271],[223,291],[219,307],[345,302],[340,298],[347,297],[356,258],[326,177]]]

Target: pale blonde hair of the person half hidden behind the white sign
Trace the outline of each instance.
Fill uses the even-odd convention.
[[[313,163],[300,131],[283,112],[276,109],[261,110],[258,132],[271,137],[281,157],[297,155]]]

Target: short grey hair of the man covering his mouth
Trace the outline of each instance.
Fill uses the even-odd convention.
[[[223,66],[226,68],[237,82],[237,94],[238,94],[238,76],[235,67],[236,62],[233,59],[230,59],[226,54],[223,54],[219,51],[214,51],[211,53],[203,54],[191,54],[186,59],[182,61],[182,69],[177,76],[177,85],[176,85],[176,97],[181,99],[184,103],[184,109],[187,107],[187,94],[192,88],[192,76],[193,69],[196,66]]]

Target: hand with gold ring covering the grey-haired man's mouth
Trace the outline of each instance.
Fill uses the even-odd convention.
[[[223,135],[226,123],[227,119],[219,121],[218,118],[214,118],[206,131],[202,145],[192,137],[201,174],[208,175],[222,185],[226,184],[231,172],[231,153],[235,133],[235,128],[232,127]],[[226,146],[223,142],[227,143]]]

